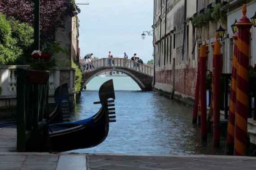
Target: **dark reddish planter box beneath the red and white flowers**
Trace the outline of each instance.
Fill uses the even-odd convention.
[[[29,69],[29,82],[31,83],[45,84],[49,76],[50,72],[48,71]]]

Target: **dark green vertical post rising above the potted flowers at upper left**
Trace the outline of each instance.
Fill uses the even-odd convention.
[[[34,0],[34,46],[40,50],[40,0]]]

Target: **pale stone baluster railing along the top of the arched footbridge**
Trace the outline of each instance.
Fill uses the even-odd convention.
[[[91,62],[91,68],[97,69],[97,68],[102,68],[102,67],[123,67],[123,68],[129,68],[132,70],[136,70],[138,72],[142,72],[144,74],[153,76],[154,75],[154,68],[146,65],[146,64],[141,64],[136,61],[132,61],[131,59],[125,59],[125,58],[112,58],[111,61],[111,66],[108,65],[108,58],[101,58],[97,59]],[[86,63],[84,63],[85,67],[87,67]],[[94,68],[93,68],[94,67]],[[90,72],[92,71],[90,69],[86,70],[85,72]]]

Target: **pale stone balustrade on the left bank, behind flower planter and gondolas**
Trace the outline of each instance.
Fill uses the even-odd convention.
[[[16,106],[16,69],[29,68],[28,65],[1,65],[0,66],[0,108]],[[53,67],[49,77],[49,103],[54,103],[54,91],[63,83],[68,82],[70,102],[75,95],[75,69]]]

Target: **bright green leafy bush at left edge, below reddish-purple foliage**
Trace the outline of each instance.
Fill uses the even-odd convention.
[[[0,65],[26,61],[33,45],[33,28],[0,13]]]

